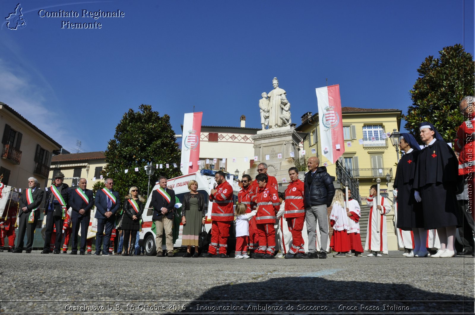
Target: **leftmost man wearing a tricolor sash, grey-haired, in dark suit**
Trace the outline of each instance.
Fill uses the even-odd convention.
[[[27,253],[31,252],[33,247],[33,238],[35,236],[36,222],[39,218],[39,206],[43,201],[44,191],[37,187],[38,180],[35,177],[28,178],[28,189],[21,195],[20,210],[18,212],[18,238],[17,247],[14,253],[21,253],[23,250],[23,239],[25,231],[27,233]],[[12,227],[13,229],[13,227]],[[10,241],[9,241],[10,243]]]

